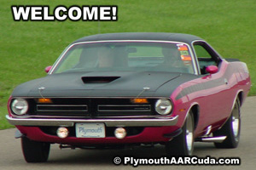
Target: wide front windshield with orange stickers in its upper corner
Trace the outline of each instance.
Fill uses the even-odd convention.
[[[175,42],[84,42],[72,45],[53,73],[170,71],[194,74],[187,45]]]

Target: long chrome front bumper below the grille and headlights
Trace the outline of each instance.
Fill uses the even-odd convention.
[[[6,116],[15,126],[64,126],[73,127],[75,123],[105,123],[107,127],[163,127],[174,126],[178,116],[154,118],[104,118],[104,119],[65,119],[65,118],[15,118]]]

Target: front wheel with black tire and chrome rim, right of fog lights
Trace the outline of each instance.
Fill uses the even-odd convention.
[[[183,132],[166,143],[167,156],[192,156],[194,150],[194,124],[193,113],[189,111],[182,128]]]

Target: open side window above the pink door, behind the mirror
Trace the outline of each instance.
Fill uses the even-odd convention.
[[[199,62],[201,74],[207,74],[206,67],[208,65],[218,66],[219,58],[217,54],[214,53],[212,48],[207,46],[207,44],[203,42],[194,44],[194,48],[197,60]]]

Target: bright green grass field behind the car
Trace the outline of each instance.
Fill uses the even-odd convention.
[[[118,5],[118,21],[15,22],[11,5]],[[3,1],[0,6],[0,129],[7,101],[21,82],[44,77],[70,42],[106,32],[152,31],[194,34],[207,40],[224,58],[247,63],[256,94],[256,2],[245,1]]]

